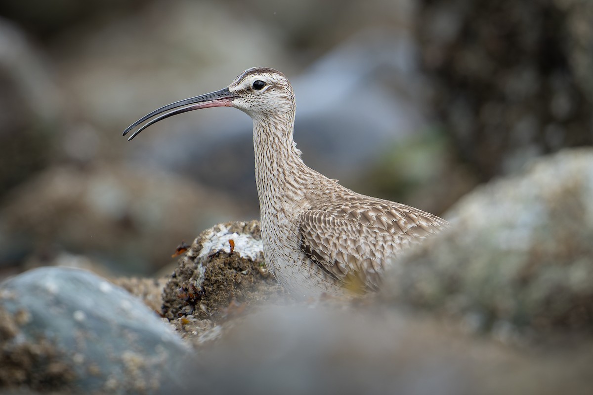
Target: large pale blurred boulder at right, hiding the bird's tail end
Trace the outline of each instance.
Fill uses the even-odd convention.
[[[593,333],[593,150],[484,185],[396,261],[382,296],[503,338]]]

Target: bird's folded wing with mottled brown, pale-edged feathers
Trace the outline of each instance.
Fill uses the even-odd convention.
[[[345,286],[376,290],[385,264],[447,221],[403,204],[369,198],[325,205],[299,216],[301,249]]]

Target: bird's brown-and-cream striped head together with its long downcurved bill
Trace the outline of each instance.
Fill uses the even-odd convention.
[[[123,132],[132,140],[142,130],[160,120],[187,111],[209,107],[235,107],[254,120],[269,117],[293,117],[294,93],[288,79],[279,71],[255,67],[241,73],[231,85],[220,91],[177,101],[146,114]]]

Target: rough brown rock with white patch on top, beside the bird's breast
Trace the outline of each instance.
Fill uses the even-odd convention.
[[[284,288],[263,261],[259,221],[227,222],[200,233],[180,259],[165,285],[162,314],[219,319],[281,296]]]

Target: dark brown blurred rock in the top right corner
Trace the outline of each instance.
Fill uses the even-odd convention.
[[[480,181],[593,143],[592,15],[587,0],[419,3],[433,106]]]

